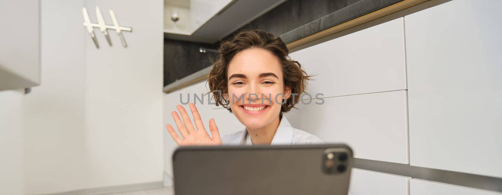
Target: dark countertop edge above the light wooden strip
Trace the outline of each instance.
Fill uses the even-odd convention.
[[[404,0],[361,0],[320,19],[314,20],[306,25],[284,33],[280,35],[280,37],[284,42],[291,43],[402,1]]]

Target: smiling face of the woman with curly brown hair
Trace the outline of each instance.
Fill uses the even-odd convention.
[[[262,128],[276,119],[282,100],[291,93],[289,87],[285,90],[279,59],[264,49],[237,53],[228,64],[227,79],[230,109],[248,129]]]

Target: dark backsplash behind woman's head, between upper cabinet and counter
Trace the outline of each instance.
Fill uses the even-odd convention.
[[[277,36],[306,25],[360,0],[289,0],[260,16],[241,29],[260,29]],[[239,31],[239,30],[238,30]],[[238,31],[223,40],[231,38]],[[216,49],[213,45],[164,40],[164,86],[211,65],[215,53],[199,52],[199,47]]]

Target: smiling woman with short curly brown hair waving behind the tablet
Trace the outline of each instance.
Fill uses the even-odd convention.
[[[316,136],[293,128],[283,116],[298,104],[311,77],[288,54],[281,38],[261,30],[243,31],[223,42],[209,73],[210,93],[216,106],[233,113],[245,129],[221,139],[211,119],[211,138],[195,105],[189,104],[195,127],[178,105],[181,119],[177,112],[172,116],[181,137],[171,125],[166,126],[174,141],[180,146],[322,143]]]

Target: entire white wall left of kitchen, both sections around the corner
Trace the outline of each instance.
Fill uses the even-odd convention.
[[[42,4],[42,82],[26,95],[26,193],[160,182],[163,179],[162,1]],[[82,26],[85,6],[107,24],[112,9],[128,48]],[[133,14],[135,13],[135,14]]]

